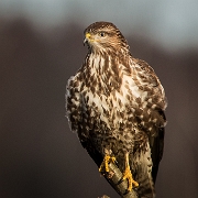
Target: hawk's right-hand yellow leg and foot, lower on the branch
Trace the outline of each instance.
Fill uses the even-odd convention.
[[[125,154],[125,170],[123,173],[123,177],[122,177],[122,180],[124,179],[128,179],[128,190],[131,191],[132,190],[132,187],[133,185],[135,187],[139,186],[139,183],[136,183],[133,177],[132,177],[132,173],[131,173],[131,169],[130,169],[130,164],[129,164],[129,153]]]

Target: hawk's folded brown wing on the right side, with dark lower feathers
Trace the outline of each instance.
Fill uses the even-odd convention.
[[[144,80],[144,89],[148,91],[148,98],[152,99],[152,102],[147,102],[147,108],[151,111],[150,117],[153,119],[157,119],[155,123],[152,123],[152,132],[148,132],[148,140],[152,152],[152,161],[153,161],[153,168],[152,168],[152,176],[153,180],[155,182],[158,164],[163,156],[163,148],[164,148],[164,135],[165,135],[165,124],[166,124],[166,117],[164,110],[167,106],[166,98],[164,94],[164,89],[161,85],[160,79],[155,75],[153,68],[144,61],[141,59],[133,59],[141,68],[141,79]],[[154,106],[153,106],[154,105]],[[148,123],[150,125],[151,123]],[[144,129],[146,130],[147,127]]]

